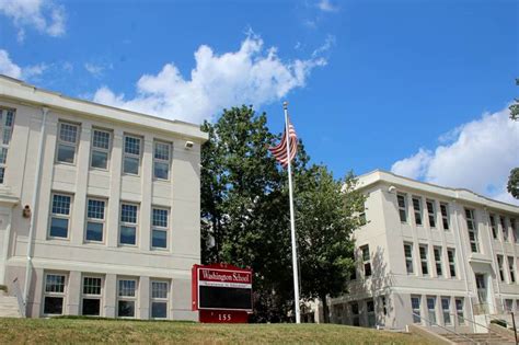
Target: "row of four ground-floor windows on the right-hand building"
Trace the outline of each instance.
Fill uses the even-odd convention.
[[[453,306],[452,300],[454,301]],[[426,296],[425,306],[423,306],[423,296],[411,296],[411,308],[413,312],[414,323],[422,323],[427,325],[442,324],[448,326],[454,324],[453,317],[455,315],[458,325],[465,324],[463,297],[441,296],[439,298],[441,321],[438,318],[438,298],[436,296]],[[424,310],[426,312],[423,312]]]

